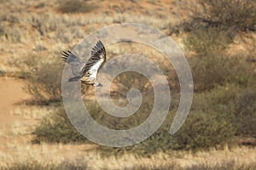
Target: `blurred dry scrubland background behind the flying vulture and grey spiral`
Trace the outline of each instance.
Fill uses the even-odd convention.
[[[253,0],[0,0],[0,169],[256,169],[256,2]],[[135,22],[163,31],[189,62],[194,99],[186,122],[171,136],[179,102],[177,74],[153,48],[119,42],[115,55],[142,54],[165,73],[172,93],[166,122],[140,144],[94,144],[69,122],[61,103],[61,51],[103,26]],[[111,38],[111,37],[109,37]],[[140,109],[117,118],[102,111],[94,88],[84,105],[106,127],[128,129],[154,105],[146,77],[115,77],[111,97],[143,94]]]

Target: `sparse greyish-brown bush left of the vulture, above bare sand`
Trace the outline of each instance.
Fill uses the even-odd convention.
[[[61,100],[62,65],[60,56],[51,57],[28,54],[9,61],[9,65],[16,66],[16,75],[26,79],[26,91],[40,102]]]

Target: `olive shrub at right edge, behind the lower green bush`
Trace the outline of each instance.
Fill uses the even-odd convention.
[[[223,113],[237,136],[255,138],[256,90],[236,84],[218,86],[209,92],[196,93],[191,111]]]

